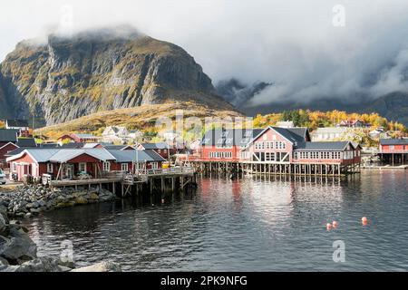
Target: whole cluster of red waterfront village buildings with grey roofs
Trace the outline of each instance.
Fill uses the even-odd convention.
[[[21,127],[19,127],[21,126]],[[339,139],[350,126],[346,122],[334,128],[320,128],[310,134],[296,128],[291,121],[280,122],[265,129],[213,129],[202,140],[178,144],[176,133],[168,132],[174,142],[126,145],[142,136],[140,131],[108,127],[102,138],[91,134],[72,133],[61,136],[56,143],[35,144],[24,121],[7,121],[0,130],[0,162],[9,168],[14,179],[24,176],[53,179],[75,179],[80,174],[92,178],[106,172],[135,172],[137,169],[161,169],[174,160],[188,160],[201,169],[235,169],[262,172],[305,174],[344,174],[358,171],[362,148],[351,141]],[[114,145],[112,143],[122,143]],[[408,139],[381,139],[379,156],[390,164],[408,160]]]

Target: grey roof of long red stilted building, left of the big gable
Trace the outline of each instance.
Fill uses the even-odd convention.
[[[263,129],[214,129],[207,131],[201,141],[204,146],[247,146]]]

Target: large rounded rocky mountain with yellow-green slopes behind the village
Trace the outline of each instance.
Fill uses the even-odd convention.
[[[189,53],[129,27],[18,43],[0,64],[0,83],[1,116],[34,113],[46,125],[174,101],[233,109]]]

